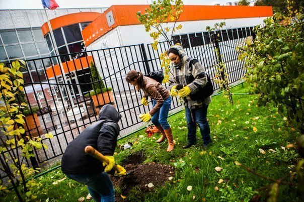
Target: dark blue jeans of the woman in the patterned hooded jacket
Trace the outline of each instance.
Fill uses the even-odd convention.
[[[188,143],[196,144],[196,123],[200,129],[200,134],[203,137],[204,145],[211,143],[210,127],[207,121],[208,105],[203,105],[201,108],[190,110],[186,109],[186,121],[188,125]]]

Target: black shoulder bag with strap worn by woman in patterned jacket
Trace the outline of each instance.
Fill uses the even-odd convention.
[[[190,61],[189,61],[189,70],[191,71],[192,70],[192,63],[193,63],[193,60],[196,60],[195,58],[190,58]],[[197,60],[196,60],[197,61]],[[198,62],[198,61],[197,61]],[[191,94],[190,93],[190,98],[194,101],[196,100],[202,100],[202,99],[205,99],[206,97],[212,95],[213,93],[213,85],[212,85],[212,82],[210,80],[210,77],[209,75],[206,73],[206,76],[207,76],[207,84],[203,87],[203,88],[200,88],[197,92],[195,92],[194,94]],[[194,77],[193,75],[191,74],[191,78],[190,78],[190,81],[193,82],[194,81]]]

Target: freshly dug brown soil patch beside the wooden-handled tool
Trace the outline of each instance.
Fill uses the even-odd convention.
[[[115,201],[129,201],[128,193],[135,186],[140,193],[153,191],[156,187],[164,185],[166,181],[170,181],[169,177],[175,175],[174,167],[157,163],[140,165],[127,164],[125,169],[127,172],[133,172],[130,175],[120,178],[111,176],[114,186],[120,187],[122,195],[126,196],[126,198],[123,199],[120,193],[116,193]],[[152,183],[153,186],[149,187],[149,183]]]

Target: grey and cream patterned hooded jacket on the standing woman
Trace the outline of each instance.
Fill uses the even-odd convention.
[[[169,85],[170,88],[178,83],[188,86],[191,93],[199,91],[202,87],[207,84],[206,70],[202,64],[200,64],[196,59],[192,61],[192,68],[189,68],[189,59],[183,47],[180,45],[174,45],[174,48],[178,51],[179,57],[181,58],[181,65],[178,67],[173,66],[171,69],[173,71],[174,77],[170,75]],[[192,81],[192,76],[194,80]],[[203,105],[209,105],[211,102],[211,96],[206,97],[203,100],[192,100],[190,96],[184,97],[184,105],[189,109],[201,108]]]

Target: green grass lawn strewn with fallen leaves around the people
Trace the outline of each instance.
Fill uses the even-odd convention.
[[[239,85],[233,88],[233,92],[248,92],[248,89]],[[175,163],[176,166],[175,176],[165,186],[145,194],[134,188],[128,199],[136,201],[140,195],[145,201],[202,201],[202,198],[207,201],[249,201],[257,193],[254,189],[266,186],[271,181],[249,173],[235,165],[235,161],[275,179],[288,174],[299,157],[295,150],[281,147],[294,143],[299,134],[286,126],[284,117],[277,114],[275,108],[256,107],[252,102],[254,95],[234,95],[233,98],[235,104],[231,105],[221,95],[212,97],[207,118],[213,143],[206,150],[202,147],[199,129],[198,144],[190,149],[182,149],[187,144],[184,111],[169,118],[176,141],[171,153],[166,152],[167,143],[156,143],[159,135],[147,138],[143,130],[120,140],[119,145],[127,142],[134,145],[124,151],[116,150],[118,163],[131,153],[143,150],[147,157],[145,162]],[[260,153],[259,149],[266,153]],[[220,172],[215,170],[217,166],[222,167]],[[52,184],[62,178],[64,175],[59,169],[39,177],[43,194],[38,198],[41,201],[47,198],[49,201],[75,201],[87,195],[85,186],[69,179]],[[219,184],[219,179],[224,182]],[[187,190],[189,185],[193,187],[191,191]],[[218,190],[214,189],[216,186]],[[3,198],[10,201],[11,196],[5,195]],[[278,198],[280,201],[296,200],[296,187],[280,186]]]

